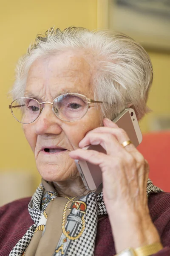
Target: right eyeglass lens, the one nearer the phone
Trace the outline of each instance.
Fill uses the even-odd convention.
[[[76,121],[88,111],[85,96],[64,94],[57,97],[53,103],[54,112],[65,121]]]

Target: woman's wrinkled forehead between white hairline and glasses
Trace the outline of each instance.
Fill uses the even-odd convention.
[[[61,93],[93,95],[93,64],[77,52],[62,52],[59,55],[39,58],[31,65],[26,91],[35,96],[50,94],[53,98]]]

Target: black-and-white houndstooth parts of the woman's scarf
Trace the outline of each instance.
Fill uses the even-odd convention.
[[[32,236],[36,230],[37,224],[42,217],[42,214],[46,207],[49,204],[49,201],[45,204],[42,204],[42,198],[44,195],[45,188],[40,183],[40,186],[37,187],[34,195],[31,198],[30,203],[28,204],[28,212],[31,215],[32,220],[35,224],[31,225],[28,228],[26,234],[18,241],[18,243],[11,250],[9,256],[22,256],[23,252],[28,247]],[[148,179],[147,182],[147,198],[150,193],[158,193],[162,190],[157,186],[154,186],[152,181]],[[55,193],[55,192],[54,192]],[[56,195],[57,196],[57,193]],[[82,233],[82,236],[79,239],[71,241],[70,246],[65,254],[65,256],[93,256],[94,255],[94,247],[95,247],[95,238],[96,238],[96,230],[97,230],[97,215],[106,215],[106,207],[103,201],[103,193],[99,193],[96,195],[94,192],[91,192],[88,195],[87,200],[88,209],[85,214],[85,230]],[[81,225],[77,230],[76,235],[80,232]]]

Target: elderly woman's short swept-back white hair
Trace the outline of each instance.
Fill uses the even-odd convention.
[[[28,70],[37,58],[68,49],[81,50],[96,59],[94,99],[104,102],[101,105],[104,116],[114,119],[130,105],[138,119],[149,111],[146,102],[153,69],[144,48],[127,35],[111,30],[90,32],[82,27],[63,31],[51,28],[44,36],[37,35],[27,54],[18,62],[11,90],[13,99],[24,96]]]

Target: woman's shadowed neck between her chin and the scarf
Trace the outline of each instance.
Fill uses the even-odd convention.
[[[88,195],[90,192],[87,190],[82,182],[80,176],[77,176],[74,180],[64,180],[53,182],[54,187],[61,197],[80,197]]]

